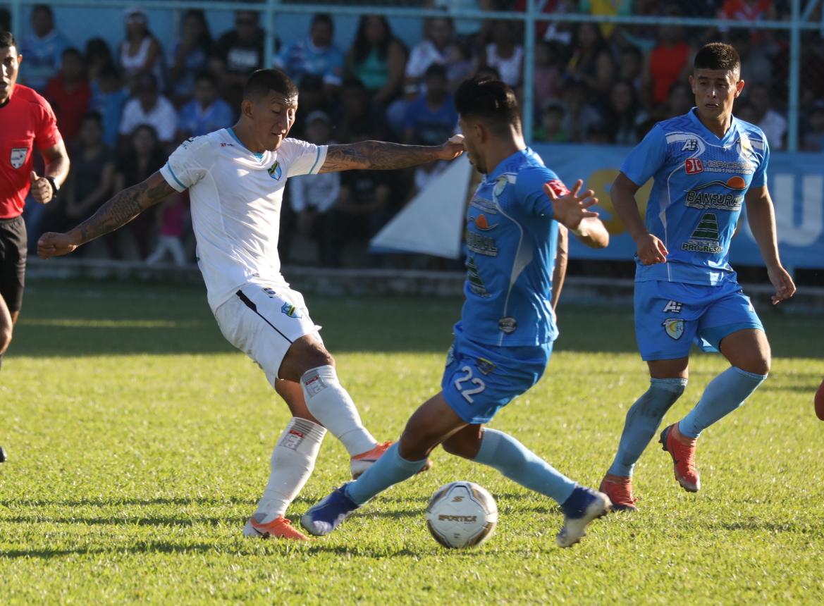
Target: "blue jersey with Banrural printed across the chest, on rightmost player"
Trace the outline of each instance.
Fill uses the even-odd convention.
[[[636,282],[717,286],[735,280],[729,243],[744,195],[766,184],[770,148],[761,128],[733,116],[723,138],[695,109],[656,124],[620,170],[634,184],[654,178],[646,226],[667,247],[667,263],[641,265]]]

